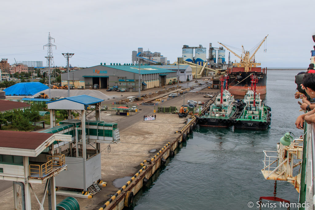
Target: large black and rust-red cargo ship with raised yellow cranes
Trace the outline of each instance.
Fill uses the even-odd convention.
[[[219,43],[240,59],[239,63],[233,63],[232,68],[227,69],[227,73],[230,77],[229,92],[231,94],[244,96],[248,88],[251,87],[250,76],[252,75],[259,79],[256,87],[257,93],[261,95],[266,94],[267,68],[258,67],[261,63],[255,62],[255,54],[266,41],[267,37],[268,35],[257,45],[252,54],[250,54],[249,51],[245,51],[242,46],[242,54],[240,56],[224,44]]]

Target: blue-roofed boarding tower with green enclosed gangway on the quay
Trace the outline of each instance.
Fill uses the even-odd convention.
[[[51,128],[41,131],[42,133],[60,133],[71,135],[70,144],[63,146],[58,153],[65,155],[68,170],[60,174],[56,179],[56,186],[83,190],[84,195],[90,198],[103,186],[101,180],[101,156],[100,143],[113,144],[120,141],[117,123],[100,121],[100,102],[98,99],[88,95],[79,95],[48,102],[50,110]],[[95,105],[95,110],[87,113],[85,107]],[[55,111],[66,109],[77,111],[81,119],[66,119],[55,125]],[[94,113],[95,121],[86,120],[86,116]],[[71,115],[69,115],[71,116]],[[66,190],[58,190],[58,195],[78,196]]]

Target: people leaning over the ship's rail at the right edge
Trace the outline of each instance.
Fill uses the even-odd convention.
[[[300,72],[295,76],[297,91],[296,99],[302,99],[301,109],[307,111],[305,114],[298,116],[295,121],[296,128],[304,128],[306,123],[315,122],[315,70],[314,64],[310,64],[306,72]]]

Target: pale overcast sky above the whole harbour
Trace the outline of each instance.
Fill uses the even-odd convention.
[[[131,63],[138,47],[173,63],[183,45],[201,44],[208,58],[209,43],[250,50],[269,34],[266,53],[263,44],[255,56],[262,67],[307,68],[315,44],[314,6],[314,0],[2,1],[0,58],[45,65],[48,32],[57,46],[54,64],[66,66],[61,53],[69,52],[70,64],[81,67]]]

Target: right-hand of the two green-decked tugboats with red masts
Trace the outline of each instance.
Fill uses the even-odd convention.
[[[248,89],[243,103],[245,108],[237,119],[233,120],[234,128],[251,129],[251,130],[267,130],[271,122],[271,108],[264,104],[260,98],[260,94],[256,93],[256,83],[258,78],[251,76],[251,89]],[[254,88],[253,88],[254,86]]]

